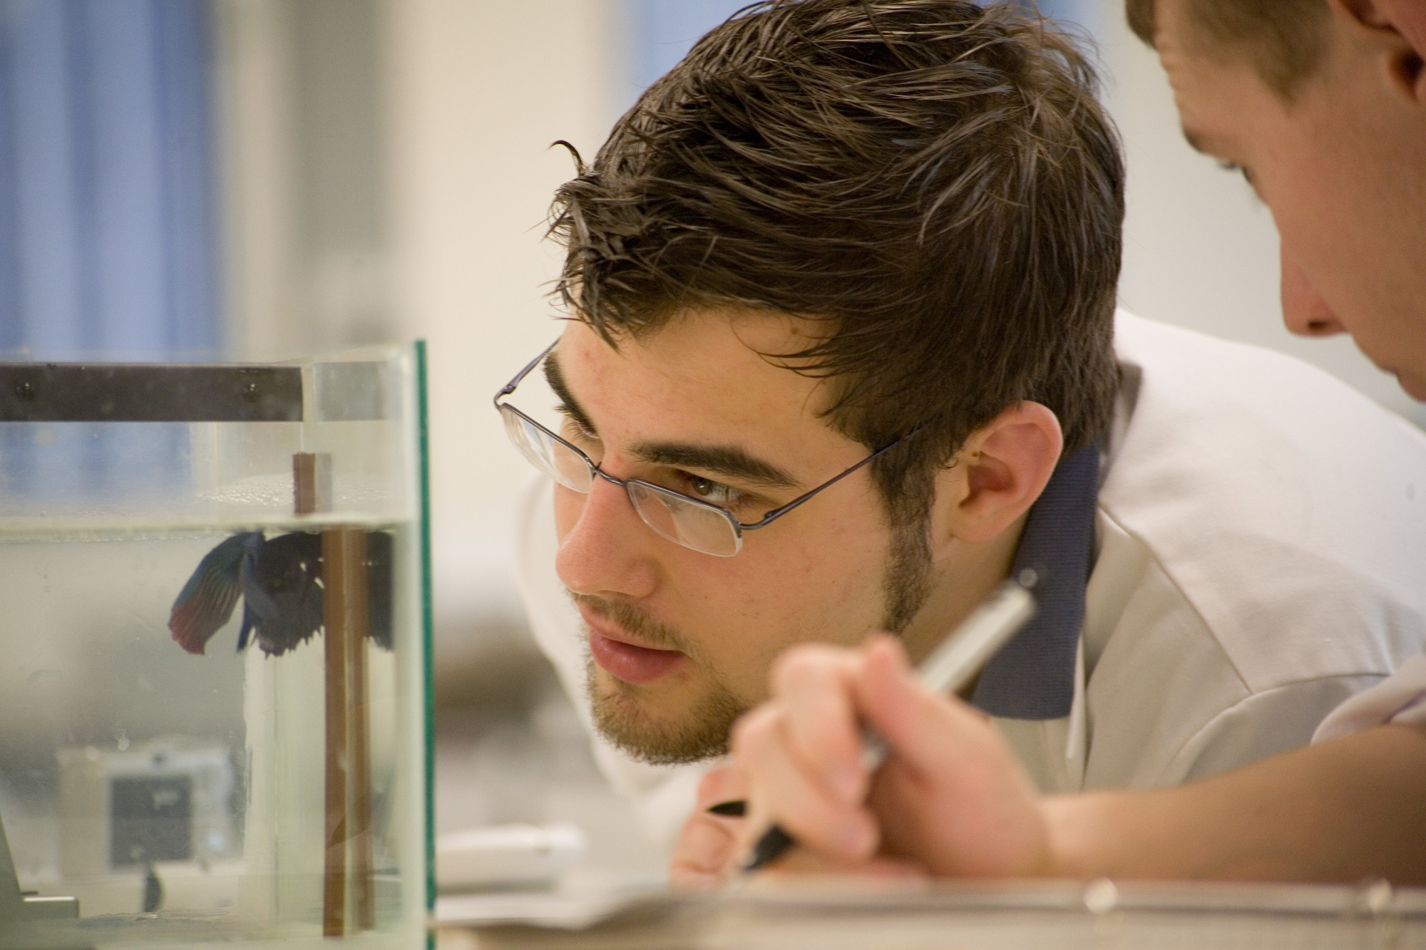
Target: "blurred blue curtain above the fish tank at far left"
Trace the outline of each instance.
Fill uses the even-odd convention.
[[[0,0],[0,351],[221,342],[208,0]]]

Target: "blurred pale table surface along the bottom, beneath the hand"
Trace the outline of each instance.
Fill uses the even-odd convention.
[[[1426,890],[1310,884],[764,882],[707,897],[446,899],[442,950],[1426,949]],[[481,917],[479,907],[488,913]],[[566,916],[559,916],[560,902]]]

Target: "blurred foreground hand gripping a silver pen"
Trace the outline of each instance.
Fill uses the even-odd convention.
[[[988,639],[992,653],[1008,633]],[[951,663],[958,676],[990,655],[964,646],[950,655],[961,656]],[[880,770],[861,759],[863,727],[891,749]],[[749,829],[773,823],[803,846],[796,864],[804,869],[864,869],[880,854],[883,864],[910,860],[941,874],[1032,873],[1045,859],[1034,790],[994,726],[921,685],[893,638],[857,650],[789,652],[770,702],[739,725],[733,750],[732,765],[704,783],[703,807],[719,807],[686,826],[674,883],[706,887],[726,877],[752,849]],[[719,795],[747,799],[746,823],[714,817],[736,810]]]

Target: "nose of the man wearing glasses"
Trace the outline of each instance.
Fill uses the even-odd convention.
[[[555,486],[555,572],[575,593],[646,598],[659,581],[653,542],[620,485],[595,478],[588,495]]]

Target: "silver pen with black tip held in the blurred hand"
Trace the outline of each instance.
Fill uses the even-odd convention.
[[[953,693],[971,680],[995,652],[1035,615],[1035,598],[1031,595],[1040,582],[1040,573],[1030,568],[995,588],[984,603],[965,618],[931,653],[915,668],[921,685],[935,693]],[[887,746],[870,729],[861,730],[861,765],[867,772],[876,772],[887,757]],[[732,814],[732,806],[724,802],[714,805],[714,813]],[[744,872],[754,872],[776,860],[793,846],[791,836],[777,824],[763,832],[753,846]]]

